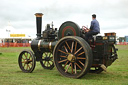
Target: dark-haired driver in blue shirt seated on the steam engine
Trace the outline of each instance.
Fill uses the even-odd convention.
[[[92,15],[92,21],[91,21],[90,29],[87,29],[86,32],[87,33],[85,34],[85,40],[87,42],[88,42],[88,39],[90,37],[92,37],[92,35],[97,35],[98,33],[100,33],[99,22],[96,20],[95,14]]]

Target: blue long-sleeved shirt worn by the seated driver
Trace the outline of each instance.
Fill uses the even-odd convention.
[[[98,33],[100,33],[99,22],[98,22],[96,19],[93,19],[93,20],[91,21],[90,30],[93,31],[93,32],[98,32]]]

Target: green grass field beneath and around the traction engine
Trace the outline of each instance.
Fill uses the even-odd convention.
[[[81,79],[63,77],[56,68],[45,70],[39,62],[33,73],[23,73],[18,66],[18,55],[30,48],[0,48],[0,85],[128,85],[128,45],[116,47],[119,59],[107,72],[88,73]]]

